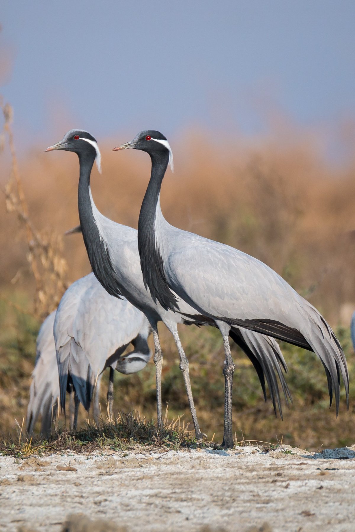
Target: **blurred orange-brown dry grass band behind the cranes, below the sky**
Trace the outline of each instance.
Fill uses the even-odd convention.
[[[140,152],[112,153],[121,140],[126,137],[101,143],[103,173],[93,171],[93,196],[109,218],[136,227],[150,161]],[[315,145],[297,139],[252,147],[236,140],[218,147],[187,134],[172,145],[176,170],[167,174],[162,191],[168,220],[258,257],[333,325],[343,321],[344,305],[355,305],[355,242],[348,234],[355,229],[355,165],[332,169]],[[20,157],[23,189],[34,226],[45,235],[62,235],[78,223],[78,161],[72,153],[43,153],[44,147]],[[6,176],[4,161],[2,166]],[[23,229],[5,209],[0,223],[6,227],[0,236],[0,287],[8,292],[15,277],[33,294]],[[60,248],[57,238],[53,246]],[[70,280],[90,271],[80,235],[64,239],[63,255]]]

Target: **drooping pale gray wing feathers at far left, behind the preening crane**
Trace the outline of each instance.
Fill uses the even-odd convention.
[[[39,414],[42,416],[41,432],[48,434],[57,413],[59,376],[53,337],[54,317],[55,311],[44,320],[37,336],[35,369],[26,417],[29,434],[33,434]]]

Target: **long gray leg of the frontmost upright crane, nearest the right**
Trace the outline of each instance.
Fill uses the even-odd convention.
[[[224,429],[223,429],[223,447],[233,448],[233,429],[232,429],[232,389],[233,389],[233,373],[236,369],[229,345],[229,329],[227,323],[216,322],[219,327],[224,343],[225,361],[223,367],[224,375]]]

